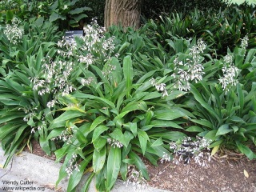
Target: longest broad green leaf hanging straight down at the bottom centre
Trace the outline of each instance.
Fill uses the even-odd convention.
[[[121,166],[121,149],[111,147],[106,165],[106,190],[110,191],[118,178]]]

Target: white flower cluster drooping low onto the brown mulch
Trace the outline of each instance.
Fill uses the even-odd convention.
[[[199,166],[208,166],[206,161],[210,162],[210,153],[205,150],[210,150],[210,140],[197,137],[193,141],[190,137],[183,138],[179,142],[171,142],[170,149],[174,150],[173,162],[178,164],[179,162],[189,163],[191,159],[194,159]]]

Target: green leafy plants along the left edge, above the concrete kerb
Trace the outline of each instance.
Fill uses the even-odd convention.
[[[54,57],[56,42],[51,41],[57,41],[59,36],[51,34],[50,30],[56,30],[56,27],[49,22],[43,22],[41,18],[32,21],[24,23],[24,34],[17,44],[5,35],[0,40],[0,140],[8,154],[5,166],[18,150],[30,146],[33,136],[47,154],[54,149],[54,142],[46,140],[47,125],[54,116],[47,107],[51,95],[39,95],[31,80],[40,74],[43,58]]]

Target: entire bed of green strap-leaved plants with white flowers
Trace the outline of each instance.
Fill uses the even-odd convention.
[[[57,32],[62,18],[7,19],[5,166],[36,138],[64,160],[56,185],[68,177],[66,190],[74,191],[89,173],[83,190],[95,178],[98,190],[110,191],[117,178],[146,186],[142,157],[154,166],[177,158],[205,165],[202,150],[221,147],[256,158],[255,15],[250,6],[233,8],[162,15],[137,31],[106,32],[94,20],[73,42]]]

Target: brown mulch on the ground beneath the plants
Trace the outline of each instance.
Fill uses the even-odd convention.
[[[32,141],[32,146],[33,154],[55,159],[54,154],[47,156],[38,142]],[[215,154],[208,166],[203,167],[193,161],[178,165],[173,162],[159,162],[157,167],[143,161],[150,174],[149,185],[154,188],[174,192],[256,192],[256,160],[250,161],[241,154]]]

